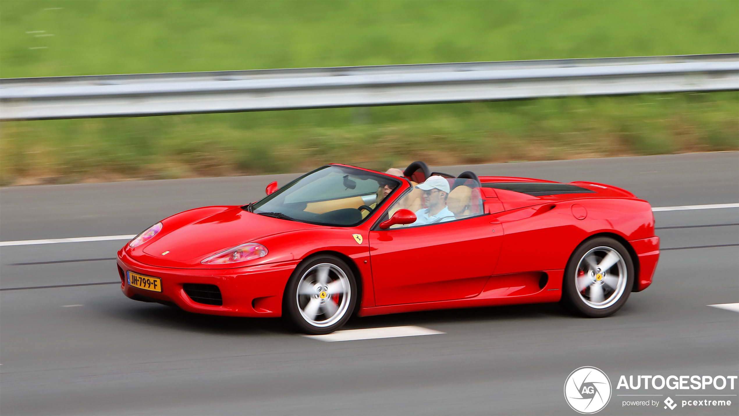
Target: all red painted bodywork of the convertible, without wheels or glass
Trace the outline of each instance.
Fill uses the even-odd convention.
[[[550,182],[513,177],[480,180]],[[378,226],[382,210],[355,227],[328,227],[251,214],[238,206],[197,208],[164,219],[162,231],[149,242],[134,249],[126,245],[118,252],[118,266],[124,273],[131,270],[160,278],[163,291],[142,290],[126,282],[121,289],[126,296],[171,301],[190,312],[280,316],[285,285],[296,265],[327,251],[343,256],[355,268],[362,316],[553,302],[562,296],[562,273],[573,250],[600,234],[616,236],[635,254],[634,291],[649,286],[659,258],[649,203],[610,185],[571,184],[594,193],[534,197],[480,188],[483,216],[385,230]],[[409,187],[404,182],[388,197],[384,209]],[[361,243],[353,234],[362,236]],[[264,245],[267,256],[236,267],[200,264],[245,242]],[[165,251],[169,253],[163,256]],[[539,285],[544,282],[542,273],[548,276],[544,287]],[[185,283],[216,284],[222,306],[192,301],[183,292]]]

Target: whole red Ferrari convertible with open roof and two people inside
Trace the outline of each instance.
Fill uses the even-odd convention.
[[[659,257],[650,204],[599,183],[332,164],[267,194],[140,233],[118,251],[123,293],[311,334],[353,314],[502,304],[604,317],[651,284]]]

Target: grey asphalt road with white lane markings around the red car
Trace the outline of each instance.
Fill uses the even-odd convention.
[[[593,180],[653,206],[739,202],[737,152],[437,168],[458,174]],[[0,239],[135,234],[202,205],[251,202],[271,180],[229,177],[0,190]],[[324,343],[278,319],[197,316],[127,299],[118,285],[0,292],[1,415],[573,415],[565,378],[596,366],[613,383],[599,415],[737,415],[734,390],[651,390],[623,406],[620,375],[738,375],[739,209],[656,212],[654,284],[610,318],[556,304],[357,318],[350,328],[418,325],[443,335]],[[712,225],[695,227],[695,225]],[[685,228],[689,227],[689,228]],[[0,287],[115,282],[123,241],[0,250]],[[713,248],[689,248],[729,245]],[[69,260],[83,260],[69,262]],[[72,305],[72,306],[70,306]],[[723,394],[724,407],[682,407]]]

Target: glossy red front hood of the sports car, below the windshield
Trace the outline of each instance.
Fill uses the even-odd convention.
[[[171,224],[174,225],[174,221]],[[132,250],[131,255],[137,261],[160,267],[202,266],[200,265],[202,259],[236,245],[276,233],[319,227],[304,222],[252,214],[241,208],[232,208],[206,216],[171,231],[167,230],[167,220],[163,221],[163,225],[162,232],[165,234],[157,236],[158,238],[143,245],[141,249]],[[279,256],[279,253],[268,253],[265,261],[272,256]],[[208,267],[239,267],[239,265]]]

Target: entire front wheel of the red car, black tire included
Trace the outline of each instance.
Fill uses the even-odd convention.
[[[301,332],[333,333],[351,318],[358,296],[354,273],[344,260],[330,255],[311,257],[296,267],[287,282],[283,315]]]

